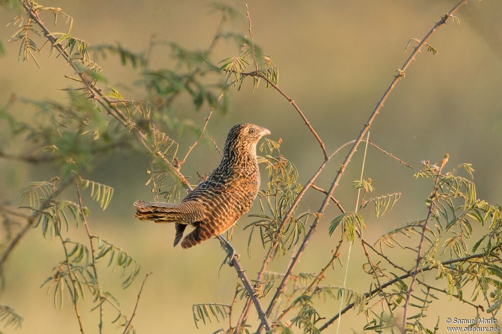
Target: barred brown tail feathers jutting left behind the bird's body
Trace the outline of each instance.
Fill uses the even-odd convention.
[[[134,206],[137,209],[135,217],[141,220],[154,220],[156,223],[190,224],[204,218],[204,206],[197,201],[182,203],[136,201]]]

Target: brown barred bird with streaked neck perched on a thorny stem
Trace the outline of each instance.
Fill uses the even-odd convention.
[[[232,265],[233,257],[238,254],[222,234],[251,209],[258,195],[260,170],[256,150],[266,135],[270,131],[255,124],[233,126],[226,137],[221,162],[203,182],[180,203],[136,201],[135,217],[156,223],[174,222],[174,246],[182,239],[185,228],[192,225],[194,229],[181,242],[182,248],[217,237]]]

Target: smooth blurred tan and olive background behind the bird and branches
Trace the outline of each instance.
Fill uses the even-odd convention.
[[[73,16],[74,36],[91,45],[118,42],[122,46],[142,51],[148,48],[152,35],[159,40],[173,41],[188,49],[203,49],[211,42],[219,24],[218,15],[212,14],[212,1],[156,2],[156,1],[95,1],[65,2],[46,0],[43,5],[61,7]],[[328,152],[358,135],[369,113],[390,84],[396,70],[409,55],[404,53],[411,38],[421,39],[440,16],[454,6],[454,1],[319,1],[319,2],[266,2],[249,3],[255,42],[270,55],[280,69],[280,87],[304,111],[313,127],[326,143]],[[247,34],[244,2],[234,1],[239,12],[225,30]],[[390,159],[381,152],[368,148],[364,177],[371,177],[375,192],[387,194],[402,192],[393,211],[375,220],[372,209],[366,209],[369,242],[385,231],[403,225],[407,220],[424,218],[424,199],[432,185],[426,180],[412,180],[421,168],[420,161],[440,161],[450,154],[450,168],[457,163],[472,163],[475,169],[477,195],[489,203],[502,202],[502,3],[486,0],[472,1],[457,14],[461,24],[448,21],[432,37],[429,44],[437,55],[424,49],[387,100],[381,114],[370,131],[370,139],[388,152],[415,167],[415,171]],[[0,23],[7,24],[13,12],[0,10]],[[47,16],[46,22],[52,18]],[[38,56],[41,69],[33,62],[18,62],[18,45],[7,44],[14,34],[12,27],[0,29],[0,41],[6,56],[0,58],[0,105],[7,103],[11,94],[32,100],[52,99],[64,102],[66,92],[57,88],[68,86],[64,75],[71,75],[64,61],[55,57]],[[44,51],[45,53],[46,51]],[[232,44],[219,43],[215,47],[216,62],[238,54]],[[141,99],[145,92],[135,90],[141,72],[122,67],[116,58],[97,58],[110,85],[119,87],[125,98]],[[152,55],[152,68],[170,67],[172,60],[162,48]],[[29,121],[34,110],[19,104],[12,110],[21,119]],[[188,100],[177,104],[178,116],[202,125],[207,114],[203,107],[195,111]],[[287,121],[285,121],[287,120]],[[110,120],[114,122],[114,120]],[[228,129],[237,123],[252,122],[271,130],[273,140],[282,138],[281,152],[298,168],[304,183],[322,162],[322,152],[301,118],[287,101],[273,90],[263,87],[252,93],[249,83],[240,92],[232,91],[227,113],[216,113],[207,131],[222,148]],[[176,133],[181,151],[193,142],[193,132]],[[11,143],[3,151],[23,152],[24,142]],[[356,191],[352,181],[359,179],[363,146],[352,160],[341,179],[335,197],[347,210],[355,205]],[[333,158],[316,184],[328,188],[346,151]],[[210,172],[219,162],[219,155],[210,142],[198,145],[182,172],[197,177]],[[236,274],[233,268],[223,266],[218,272],[224,253],[216,241],[208,241],[189,250],[173,248],[174,227],[140,222],[133,217],[132,203],[137,199],[151,200],[150,187],[145,186],[145,173],[150,160],[141,153],[117,152],[101,159],[88,175],[89,179],[114,187],[115,194],[108,209],[101,212],[88,198],[91,209],[89,223],[94,234],[113,241],[128,251],[141,265],[140,279],[126,290],[119,288],[118,275],[101,270],[104,285],[116,286],[112,290],[124,312],[130,314],[141,285],[141,278],[149,271],[139,303],[134,326],[139,333],[211,333],[222,325],[213,321],[196,329],[191,306],[199,302],[229,303],[233,297]],[[22,162],[0,158],[0,196],[13,203],[19,201],[19,190],[29,181],[46,180],[58,170],[47,165],[30,166]],[[264,171],[262,171],[265,177]],[[299,211],[317,210],[323,195],[309,191]],[[258,212],[255,205],[253,212]],[[330,220],[339,213],[330,206],[317,233],[307,247],[297,271],[317,272],[331,258],[335,237],[329,238]],[[248,231],[242,227],[252,218],[244,216],[234,233],[233,244],[241,254],[243,267],[250,278],[256,276],[265,254],[258,238],[252,248],[252,258],[246,256]],[[482,229],[483,227],[477,226]],[[71,231],[72,238],[81,237],[83,231]],[[63,310],[52,306],[52,294],[40,284],[52,274],[52,267],[61,260],[61,245],[57,240],[44,239],[40,231],[33,230],[19,244],[4,268],[6,289],[0,294],[0,303],[13,307],[25,318],[19,333],[77,332],[77,322],[69,298]],[[34,250],[37,251],[34,251]],[[343,249],[343,260],[347,249]],[[411,267],[413,253],[389,251],[397,261]],[[284,271],[290,253],[274,261],[269,269]],[[347,288],[365,292],[369,277],[362,270],[364,254],[353,247],[349,264]],[[325,283],[341,285],[343,270],[328,271]],[[444,287],[445,283],[438,282]],[[447,299],[445,299],[447,300]],[[236,306],[240,314],[242,301]],[[338,311],[338,301],[317,303],[321,314],[331,317]],[[96,311],[89,313],[91,300],[83,302],[81,313],[89,332],[97,328]],[[447,316],[474,315],[472,310],[458,302],[448,307],[433,304],[430,323]],[[105,319],[114,314],[105,312]],[[356,320],[358,319],[358,320]],[[341,333],[362,332],[363,317],[350,311],[342,318]],[[226,327],[227,324],[223,323]],[[236,317],[233,322],[236,321]],[[256,323],[252,314],[250,323]],[[442,323],[442,322],[440,322]],[[115,326],[105,322],[104,332],[114,332]],[[335,332],[332,326],[327,332]]]

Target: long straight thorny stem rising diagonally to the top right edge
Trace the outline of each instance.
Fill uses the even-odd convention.
[[[347,156],[345,157],[345,160],[340,165],[340,169],[338,170],[338,173],[336,174],[336,176],[335,176],[335,178],[333,180],[333,183],[331,184],[331,187],[328,190],[328,194],[326,195],[326,198],[324,199],[323,203],[321,204],[321,207],[318,210],[318,217],[316,217],[316,219],[312,223],[309,231],[305,235],[304,240],[302,242],[302,246],[298,250],[297,257],[295,258],[295,260],[293,261],[293,263],[291,265],[291,270],[289,270],[288,273],[286,274],[286,276],[283,278],[283,281],[278,286],[274,297],[272,297],[272,300],[271,300],[271,302],[269,304],[269,307],[267,308],[267,314],[270,314],[270,312],[272,311],[272,309],[273,309],[273,307],[274,307],[274,305],[275,305],[275,303],[277,301],[277,298],[282,293],[282,289],[284,288],[284,286],[288,282],[288,279],[289,279],[289,276],[291,275],[292,270],[296,266],[296,263],[298,262],[298,260],[300,259],[303,251],[305,250],[306,244],[308,243],[308,241],[312,237],[312,234],[314,233],[314,231],[315,231],[315,229],[317,227],[317,224],[319,223],[320,216],[322,216],[322,214],[324,213],[324,210],[325,210],[326,206],[328,205],[329,199],[330,199],[331,195],[333,194],[333,191],[338,186],[338,182],[339,182],[340,178],[343,175],[343,171],[345,170],[345,168],[347,167],[348,163],[350,162],[352,156],[354,155],[355,151],[357,150],[357,147],[358,147],[359,143],[362,141],[364,135],[369,130],[369,127],[371,126],[371,123],[374,121],[374,119],[376,118],[376,116],[379,114],[380,109],[382,109],[382,107],[384,106],[384,102],[387,100],[387,98],[389,97],[389,95],[391,94],[391,92],[394,90],[394,88],[396,87],[396,85],[400,82],[401,78],[404,77],[405,72],[408,69],[408,67],[415,60],[415,57],[417,56],[417,54],[421,51],[422,47],[431,38],[431,36],[434,34],[434,32],[437,30],[437,28],[439,26],[441,26],[442,24],[444,24],[446,22],[446,20],[450,16],[452,16],[460,7],[462,7],[463,5],[465,5],[467,3],[467,1],[468,0],[462,0],[462,1],[460,1],[453,9],[451,9],[447,14],[445,14],[443,16],[443,18],[438,23],[436,23],[434,25],[434,27],[429,31],[429,33],[427,33],[427,35],[425,35],[425,37],[420,41],[420,43],[417,45],[417,47],[415,47],[415,49],[411,53],[410,57],[408,57],[408,59],[406,60],[406,62],[403,64],[403,66],[401,67],[401,69],[398,72],[398,75],[396,75],[394,77],[394,79],[392,80],[391,84],[389,85],[389,87],[387,88],[387,90],[384,92],[384,94],[380,98],[379,102],[376,104],[376,106],[373,109],[373,111],[371,112],[368,120],[366,121],[366,123],[364,124],[363,128],[361,129],[361,131],[359,133],[359,136],[355,140],[355,143],[352,145],[350,151],[348,152]]]

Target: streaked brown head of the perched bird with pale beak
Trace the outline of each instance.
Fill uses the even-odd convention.
[[[225,153],[246,150],[256,154],[258,141],[266,135],[270,135],[270,131],[261,126],[250,123],[237,124],[228,132],[225,142]]]

